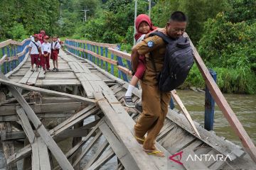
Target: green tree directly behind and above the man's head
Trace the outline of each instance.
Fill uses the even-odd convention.
[[[156,26],[164,27],[169,21],[171,13],[183,11],[188,16],[188,28],[186,32],[195,44],[203,33],[203,22],[208,18],[228,8],[225,0],[162,0],[152,8],[152,21]]]

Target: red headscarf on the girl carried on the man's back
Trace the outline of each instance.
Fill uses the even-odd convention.
[[[140,14],[135,20],[136,34],[134,35],[134,38],[136,41],[143,35],[142,33],[139,33],[139,24],[142,23],[142,21],[146,21],[146,23],[149,24],[149,33],[157,28],[153,26],[153,23],[151,23],[149,16],[146,14]]]

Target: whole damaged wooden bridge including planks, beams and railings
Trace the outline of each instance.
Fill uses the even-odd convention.
[[[179,105],[181,111],[169,109],[156,140],[156,147],[166,157],[148,155],[133,136],[140,113],[124,107],[122,101],[131,75],[128,53],[113,44],[65,40],[58,59],[60,72],[31,72],[28,42],[0,43],[4,73],[0,79],[0,128],[6,169],[101,169],[110,159],[116,160],[113,164],[118,170],[255,169],[255,146],[195,48],[195,60],[208,89],[244,148],[195,122],[198,137]],[[138,101],[141,91],[136,89],[132,98]],[[24,147],[18,149],[21,141]],[[169,159],[176,153],[172,158],[177,162]],[[187,159],[206,154],[215,158],[221,154],[231,161]],[[23,165],[18,164],[22,160]]]

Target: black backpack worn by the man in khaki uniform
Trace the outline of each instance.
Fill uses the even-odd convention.
[[[189,44],[188,38],[178,38],[172,40],[164,33],[154,32],[150,36],[158,35],[166,42],[166,52],[164,56],[164,67],[161,72],[156,75],[159,81],[159,90],[168,92],[176,89],[183,84],[188,73],[193,66],[193,50]],[[156,71],[154,58],[150,55],[151,62]]]

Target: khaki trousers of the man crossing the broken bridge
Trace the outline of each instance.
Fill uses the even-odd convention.
[[[142,115],[134,125],[136,137],[144,138],[144,149],[156,149],[154,141],[164,125],[164,119],[168,112],[171,100],[171,92],[161,92],[158,86],[141,83],[142,86]],[[138,141],[139,142],[139,141]]]

